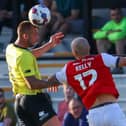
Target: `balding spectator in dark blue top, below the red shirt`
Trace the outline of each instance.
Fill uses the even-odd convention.
[[[72,98],[68,104],[69,112],[64,116],[63,126],[88,126],[88,111],[84,108],[81,101]]]

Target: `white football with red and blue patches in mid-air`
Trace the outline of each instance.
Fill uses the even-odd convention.
[[[45,25],[51,20],[51,12],[45,5],[37,4],[29,10],[28,19],[35,26]]]

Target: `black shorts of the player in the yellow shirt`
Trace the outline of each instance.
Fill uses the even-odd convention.
[[[15,111],[18,126],[42,126],[56,115],[46,93],[19,95],[15,100]]]

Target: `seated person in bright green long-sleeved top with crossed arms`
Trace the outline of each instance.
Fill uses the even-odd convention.
[[[124,54],[126,47],[126,17],[120,8],[110,9],[110,21],[94,33],[98,53],[108,52],[112,45],[116,54]]]

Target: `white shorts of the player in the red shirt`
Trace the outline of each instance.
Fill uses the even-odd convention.
[[[118,103],[112,103],[89,110],[89,126],[126,126],[126,117]]]

